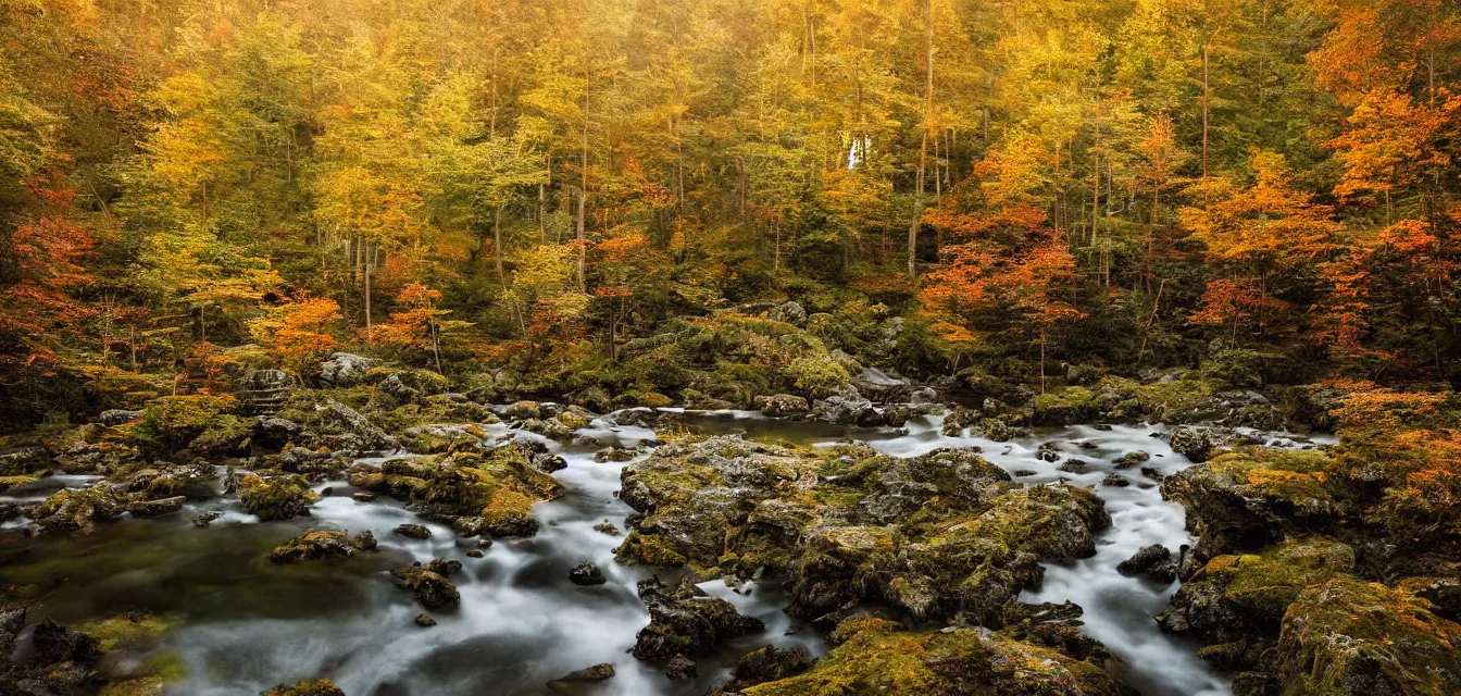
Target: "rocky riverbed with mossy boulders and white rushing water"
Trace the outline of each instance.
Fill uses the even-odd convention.
[[[254,417],[183,398],[12,447],[0,678],[218,696],[1305,693],[1273,655],[1332,659],[1303,633],[1354,630],[1325,597],[1401,607],[1386,630],[1441,690],[1397,693],[1457,678],[1454,582],[1366,585],[1351,545],[1309,537],[1343,515],[1296,478],[1330,440],[1034,427],[910,389],[595,415],[430,380],[378,383],[392,409],[342,389],[270,392]],[[1232,556],[1245,548],[1268,550]],[[1350,658],[1379,674],[1365,683],[1401,684],[1405,659]]]

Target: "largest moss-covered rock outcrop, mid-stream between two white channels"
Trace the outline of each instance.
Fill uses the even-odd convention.
[[[998,623],[1040,560],[1090,556],[1110,523],[1090,491],[1023,488],[974,450],[894,459],[688,439],[625,468],[622,483],[643,519],[618,560],[703,576],[777,570],[792,611],[809,619],[871,601],[919,620]]]

